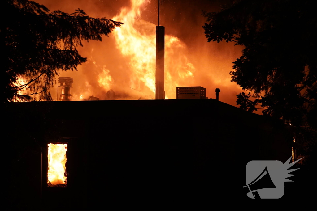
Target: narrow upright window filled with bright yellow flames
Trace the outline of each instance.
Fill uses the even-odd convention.
[[[66,152],[67,144],[48,144],[48,172],[49,187],[66,187]]]

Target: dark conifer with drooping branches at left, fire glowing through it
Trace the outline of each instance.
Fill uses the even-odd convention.
[[[86,62],[76,47],[82,40],[108,36],[121,22],[86,16],[81,9],[68,14],[28,0],[1,1],[7,17],[4,40],[4,102],[52,100],[49,87],[59,71],[77,70]]]

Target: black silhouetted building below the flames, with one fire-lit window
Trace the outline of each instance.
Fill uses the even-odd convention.
[[[12,208],[210,201],[228,191],[243,200],[249,161],[292,156],[285,125],[215,99],[17,102],[4,110]],[[47,144],[55,142],[68,143],[65,188],[47,187]]]

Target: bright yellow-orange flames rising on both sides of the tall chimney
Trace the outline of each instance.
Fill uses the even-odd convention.
[[[141,10],[149,3],[149,0],[132,0],[131,8],[122,8],[112,19],[124,25],[116,28],[113,35],[116,47],[130,59],[129,87],[155,96],[156,27],[141,19]],[[185,44],[177,37],[165,35],[165,99],[175,99],[176,86],[189,85],[194,77],[195,67],[183,55],[184,50]],[[111,88],[109,70],[99,74],[98,82],[105,90]]]

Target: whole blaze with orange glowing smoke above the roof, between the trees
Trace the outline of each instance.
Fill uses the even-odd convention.
[[[68,0],[59,3],[40,1],[52,9],[74,9]],[[154,99],[157,8],[152,5],[157,4],[150,0],[90,2],[94,3],[84,1],[77,4],[87,14],[106,16],[124,24],[102,42],[87,42],[84,48],[79,48],[80,53],[87,57],[87,62],[79,65],[78,71],[62,71],[56,80],[58,77],[74,78],[76,84],[72,90],[72,100],[75,101],[88,99],[89,96],[100,100]],[[181,3],[168,4],[176,6]],[[193,4],[192,8],[181,10],[191,13],[195,8]],[[197,14],[193,22],[179,11],[165,4],[160,16],[165,26],[165,99],[176,98],[177,86],[203,86],[207,89],[207,96],[214,97],[211,90],[217,85],[223,90],[222,101],[236,105],[236,94],[242,89],[230,82],[229,72],[232,62],[241,56],[242,48],[230,43],[208,44],[201,27],[204,17]],[[179,16],[182,21],[175,19],[174,22],[174,19],[169,19],[171,16],[166,15],[168,13]],[[176,28],[173,28],[174,25]],[[175,30],[177,33],[174,33]],[[59,97],[57,91],[50,89],[55,99]],[[108,91],[115,93],[115,97],[109,98]]]

